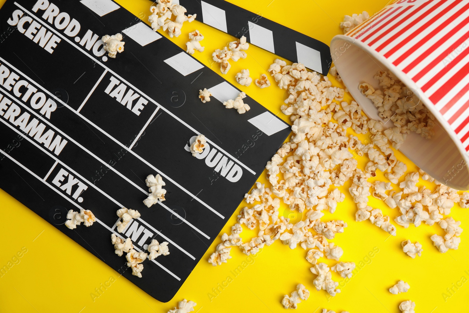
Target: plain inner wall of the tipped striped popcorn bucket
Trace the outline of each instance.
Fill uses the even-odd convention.
[[[388,70],[388,68],[361,47],[342,38],[333,38],[331,54],[343,83],[356,102],[362,106],[364,113],[369,118],[383,121],[378,116],[378,109],[360,92],[358,85],[369,83],[375,89],[382,88],[374,76],[378,70]],[[399,73],[395,74],[401,76]],[[424,105],[427,104],[424,102]],[[467,162],[439,121],[435,119],[435,122],[433,128],[435,135],[431,139],[410,132],[399,150],[439,182],[454,189],[467,190],[469,188]],[[384,126],[386,129],[394,125],[389,120]]]

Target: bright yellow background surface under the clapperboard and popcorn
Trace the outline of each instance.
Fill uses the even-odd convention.
[[[340,33],[338,23],[343,15],[363,10],[373,13],[386,4],[386,0],[231,1],[325,43],[329,43],[335,34]],[[3,2],[4,0],[0,0],[0,5]],[[147,20],[150,5],[148,0],[118,2],[144,21]],[[223,47],[233,38],[195,21],[185,23],[183,34],[173,41],[183,46],[186,34],[195,29],[205,36],[202,42],[205,52],[194,56],[205,65],[211,66],[210,56],[213,50]],[[231,83],[235,84],[234,75],[239,69],[250,69],[251,77],[257,78],[266,72],[274,59],[272,53],[255,46],[250,47],[248,54],[245,60],[231,62],[232,69],[225,76]],[[218,65],[212,64],[212,69],[218,72]],[[279,108],[285,93],[279,88],[272,86],[260,90],[254,84],[250,87],[237,86],[272,112],[280,113]],[[279,116],[288,121],[281,113]],[[396,155],[408,165],[409,171],[416,170],[401,153]],[[359,159],[359,164],[363,167],[364,160]],[[265,182],[264,177],[265,174],[260,181]],[[377,179],[385,178],[378,175]],[[432,184],[427,185],[433,188]],[[217,238],[181,290],[166,304],[151,298],[125,278],[119,277],[119,273],[0,190],[0,207],[3,213],[0,218],[0,267],[7,265],[23,247],[24,250],[27,249],[18,259],[19,263],[0,277],[0,312],[167,312],[182,298],[197,302],[196,311],[201,313],[285,312],[280,301],[284,294],[292,292],[300,282],[306,285],[311,295],[306,302],[299,304],[298,312],[318,313],[322,312],[320,309],[327,308],[336,312],[394,313],[399,312],[399,303],[408,299],[416,302],[416,312],[419,313],[467,312],[467,235],[462,234],[459,250],[451,250],[446,254],[440,254],[430,240],[431,234],[444,234],[438,225],[423,224],[418,228],[410,226],[408,229],[398,226],[397,236],[389,237],[369,221],[355,221],[356,206],[348,195],[348,187],[349,183],[340,188],[346,194],[346,200],[338,205],[333,215],[326,214],[324,220],[343,219],[348,223],[345,232],[337,235],[333,242],[343,248],[343,261],[354,261],[361,269],[347,280],[333,273],[333,279],[340,281],[342,290],[336,297],[330,298],[325,290],[314,289],[312,281],[315,276],[310,273],[310,264],[305,260],[306,252],[302,248],[290,250],[277,241],[254,257],[247,257],[239,249],[232,249],[233,259],[227,264],[212,267],[207,258],[219,243]],[[371,206],[381,208],[392,218],[398,215],[395,209],[387,208],[382,201],[372,197],[370,201]],[[240,207],[244,205],[242,203]],[[280,214],[294,221],[301,218],[295,214],[289,215],[292,214],[289,210],[284,212],[284,207],[282,205]],[[230,226],[235,223],[238,211],[239,209],[229,219],[222,232],[229,231]],[[462,221],[462,228],[467,227],[468,209],[455,206],[451,216]],[[253,231],[244,231],[241,235],[246,240],[256,234]],[[423,245],[422,257],[412,260],[402,252],[401,241],[405,239],[419,241]],[[335,263],[326,259],[321,261],[330,266]],[[238,272],[234,275],[236,268]],[[400,295],[389,293],[387,290],[401,279],[410,284],[410,290]],[[102,288],[104,291],[98,295],[95,289],[105,283],[108,286],[111,283],[110,287]],[[155,282],[158,283],[165,282]],[[450,293],[447,288],[453,291],[450,290]],[[444,297],[444,293],[447,297]]]

